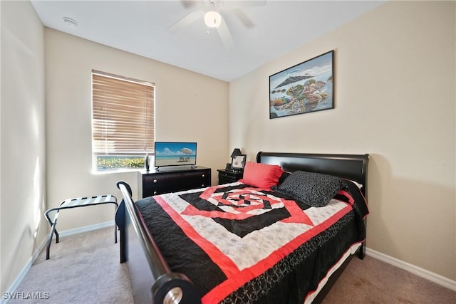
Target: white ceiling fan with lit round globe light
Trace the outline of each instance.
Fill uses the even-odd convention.
[[[207,26],[207,33],[209,29],[216,29],[219,33],[220,39],[225,48],[232,48],[234,46],[232,35],[229,31],[227,23],[224,21],[224,16],[231,12],[244,24],[247,28],[252,28],[254,23],[242,11],[242,7],[246,6],[264,6],[266,1],[223,1],[223,0],[183,0],[181,1],[185,8],[193,8],[189,14],[183,16],[181,19],[173,23],[167,29],[171,33],[178,31],[189,26],[195,21],[201,20]]]

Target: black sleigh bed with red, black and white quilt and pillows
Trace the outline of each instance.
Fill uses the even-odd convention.
[[[368,154],[259,152],[236,183],[134,202],[118,182],[135,303],[320,303],[364,258],[367,169]]]

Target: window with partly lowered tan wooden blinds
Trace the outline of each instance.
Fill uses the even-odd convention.
[[[155,84],[92,71],[93,169],[144,167],[153,151]]]

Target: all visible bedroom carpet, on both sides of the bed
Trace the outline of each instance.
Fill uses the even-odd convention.
[[[133,303],[128,269],[119,263],[113,228],[62,237],[38,256],[18,292],[41,293],[48,299],[9,303],[104,304]],[[323,304],[332,303],[456,303],[456,292],[375,258],[353,258]],[[281,304],[281,303],[277,303]]]

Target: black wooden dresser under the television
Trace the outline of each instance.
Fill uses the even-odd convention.
[[[206,167],[160,168],[142,174],[142,197],[209,187],[211,169]]]

